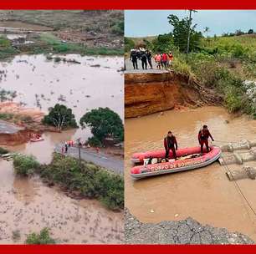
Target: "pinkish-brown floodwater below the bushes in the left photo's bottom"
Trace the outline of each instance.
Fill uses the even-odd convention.
[[[99,201],[76,201],[38,178],[19,178],[12,162],[0,160],[1,243],[13,242],[13,231],[26,235],[49,227],[60,243],[119,243],[123,240],[123,215]]]

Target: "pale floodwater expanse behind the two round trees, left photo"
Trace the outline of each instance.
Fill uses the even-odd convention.
[[[45,113],[56,103],[65,104],[73,110],[78,123],[83,114],[98,107],[109,107],[123,118],[123,76],[118,72],[123,58],[73,54],[60,57],[81,64],[55,63],[44,55],[16,56],[11,62],[0,63],[4,71],[0,87],[18,92],[14,102]],[[89,136],[90,130],[79,129],[73,138],[87,140]]]

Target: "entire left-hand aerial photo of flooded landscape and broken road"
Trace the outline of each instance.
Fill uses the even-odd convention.
[[[122,242],[122,13],[38,12],[0,13],[0,242]]]

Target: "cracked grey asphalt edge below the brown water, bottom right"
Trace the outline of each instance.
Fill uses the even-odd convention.
[[[192,218],[143,223],[125,209],[125,243],[128,244],[253,244],[248,236],[225,228],[202,225]]]

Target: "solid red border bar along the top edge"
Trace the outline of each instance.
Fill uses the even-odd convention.
[[[6,0],[1,9],[256,9],[254,0]]]

